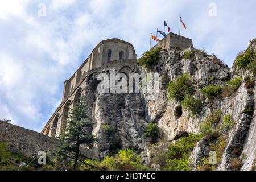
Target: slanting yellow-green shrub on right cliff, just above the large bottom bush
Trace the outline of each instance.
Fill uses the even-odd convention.
[[[216,127],[220,122],[221,113],[221,110],[215,110],[207,115],[207,118],[200,125],[201,134],[210,135],[217,132]]]

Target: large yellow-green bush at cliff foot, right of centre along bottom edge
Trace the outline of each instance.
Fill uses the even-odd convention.
[[[170,144],[167,152],[168,160],[164,170],[191,170],[189,155],[201,138],[202,135],[191,134],[188,137],[181,137],[176,143]]]

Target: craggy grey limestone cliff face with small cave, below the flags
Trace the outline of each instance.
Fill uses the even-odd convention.
[[[256,51],[255,42],[248,48]],[[193,55],[184,59],[185,52]],[[143,156],[144,162],[159,169],[152,156],[159,149],[167,150],[170,143],[188,134],[200,133],[200,125],[207,116],[216,110],[222,117],[230,115],[234,126],[224,131],[225,147],[217,164],[219,170],[232,168],[234,159],[240,160],[241,170],[255,169],[256,161],[256,117],[255,117],[255,75],[223,64],[214,55],[194,48],[186,50],[164,49],[160,51],[157,64],[150,69],[139,65],[126,73],[159,73],[159,97],[150,100],[148,94],[99,94],[94,89],[92,119],[96,123],[93,134],[101,141],[97,144],[98,155],[102,158],[119,148],[133,148]],[[195,117],[185,110],[180,102],[168,99],[168,82],[177,80],[183,73],[189,73],[194,88],[193,95],[202,102],[200,113]],[[205,98],[200,90],[209,85],[225,86],[232,78],[241,77],[242,82],[234,92],[226,90],[223,96],[214,100]],[[157,123],[160,133],[154,145],[143,137],[148,123]],[[220,136],[205,136],[191,153],[193,169],[204,158],[209,157],[210,146]]]

